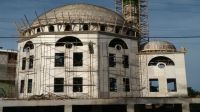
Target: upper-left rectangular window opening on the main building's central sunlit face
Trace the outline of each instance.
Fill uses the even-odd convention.
[[[55,53],[55,67],[64,67],[64,53]]]

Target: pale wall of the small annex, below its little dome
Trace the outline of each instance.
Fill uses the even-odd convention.
[[[175,65],[159,68],[156,66],[148,66],[149,61],[157,56],[165,56],[170,58]],[[187,82],[184,53],[144,53],[140,54],[141,64],[141,86],[144,97],[177,97],[187,96]],[[167,79],[176,79],[177,91],[168,92]],[[158,79],[159,92],[150,92],[149,79]]]

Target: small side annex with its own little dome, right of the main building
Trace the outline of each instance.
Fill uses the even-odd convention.
[[[150,41],[139,53],[143,97],[187,96],[185,50],[166,41]]]

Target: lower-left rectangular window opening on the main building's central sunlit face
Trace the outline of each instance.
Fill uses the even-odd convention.
[[[54,78],[54,92],[64,91],[64,78]]]

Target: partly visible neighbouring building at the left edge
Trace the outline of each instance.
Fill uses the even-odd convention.
[[[15,96],[17,51],[0,49],[0,97]]]

